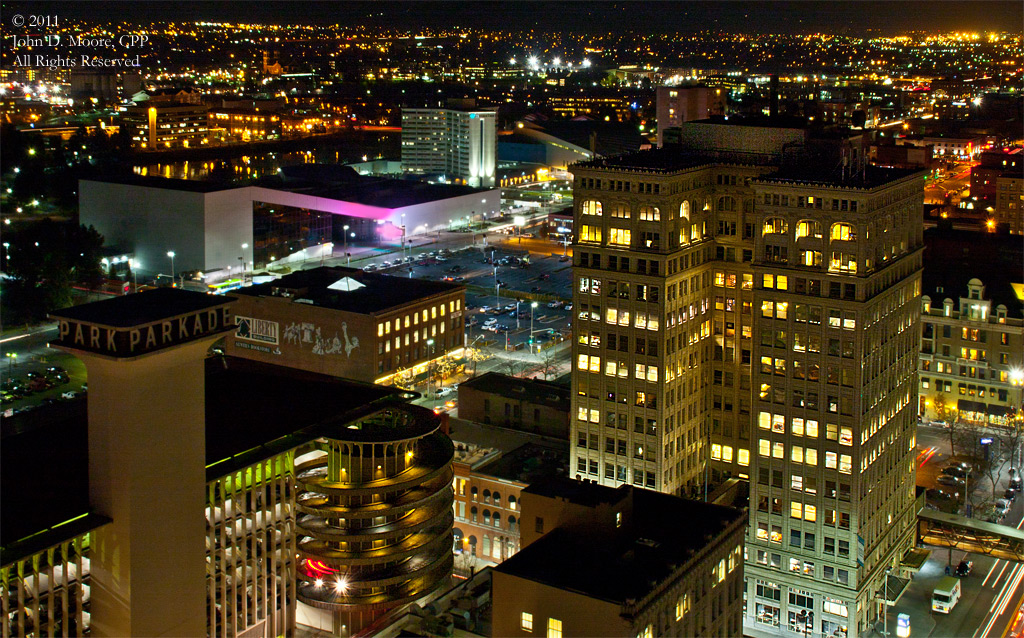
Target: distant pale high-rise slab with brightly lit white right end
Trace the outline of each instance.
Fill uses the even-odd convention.
[[[495,112],[403,109],[401,164],[407,173],[494,186],[498,159]]]

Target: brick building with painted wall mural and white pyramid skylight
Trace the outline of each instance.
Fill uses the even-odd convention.
[[[390,383],[464,345],[465,288],[321,267],[238,291],[227,354]],[[407,379],[408,381],[408,379]]]

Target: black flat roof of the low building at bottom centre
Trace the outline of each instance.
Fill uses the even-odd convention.
[[[534,485],[526,492],[564,496],[569,483],[579,486],[573,499],[633,499],[632,516],[614,540],[596,546],[582,533],[559,527],[500,564],[497,571],[627,604],[650,594],[716,537],[734,525],[741,529],[745,520],[740,510],[628,485],[612,488],[559,479],[544,492]]]

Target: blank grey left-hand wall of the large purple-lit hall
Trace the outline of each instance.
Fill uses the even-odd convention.
[[[208,267],[204,194],[88,179],[78,187],[82,223],[95,226],[106,246],[134,249],[136,269],[170,274],[169,250],[178,272]]]

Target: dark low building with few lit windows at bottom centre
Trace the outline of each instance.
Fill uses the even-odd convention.
[[[522,492],[495,567],[494,636],[738,636],[743,512],[567,478]]]

